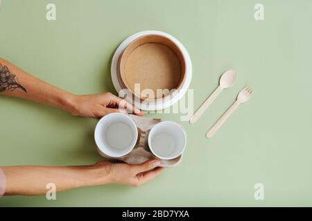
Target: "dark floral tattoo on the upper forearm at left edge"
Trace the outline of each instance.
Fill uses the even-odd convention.
[[[27,93],[26,88],[19,84],[16,75],[12,74],[7,66],[0,64],[0,93],[6,90],[13,91],[16,88],[24,90]]]

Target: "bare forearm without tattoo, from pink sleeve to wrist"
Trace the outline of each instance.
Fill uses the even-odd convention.
[[[5,195],[42,195],[53,183],[56,191],[110,182],[109,175],[94,166],[4,166]]]

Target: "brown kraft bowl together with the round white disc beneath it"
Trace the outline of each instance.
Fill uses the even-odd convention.
[[[191,59],[175,37],[144,31],[117,48],[111,75],[120,97],[144,111],[161,110],[175,104],[189,88]]]

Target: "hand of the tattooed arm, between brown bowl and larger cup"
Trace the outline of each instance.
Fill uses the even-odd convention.
[[[96,95],[73,95],[69,112],[74,116],[100,118],[109,113],[134,113],[143,116],[144,113],[112,93]]]

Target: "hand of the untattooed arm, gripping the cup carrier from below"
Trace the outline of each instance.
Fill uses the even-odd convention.
[[[98,184],[141,186],[149,180],[153,180],[164,170],[163,167],[157,167],[159,164],[159,160],[148,160],[137,165],[105,161],[94,164],[94,167],[98,171]]]

